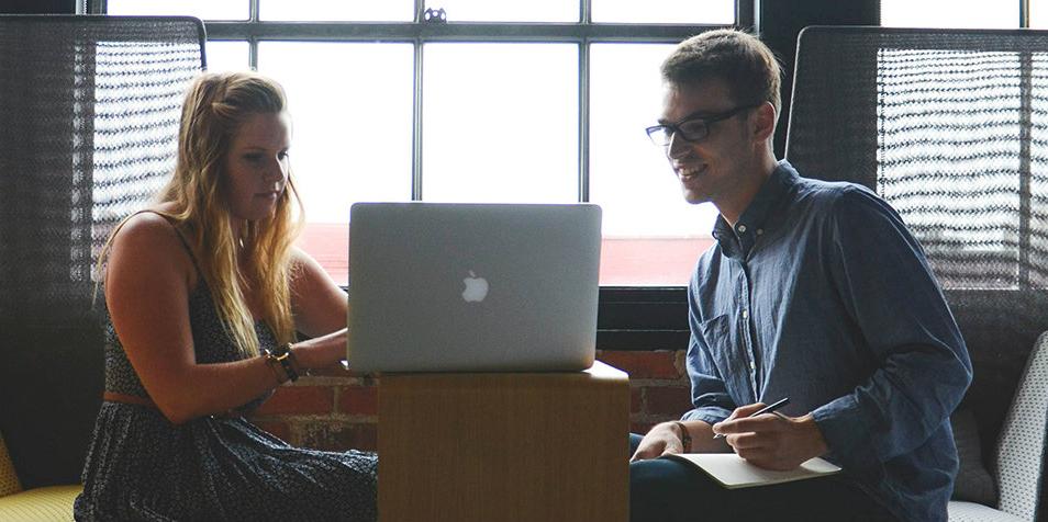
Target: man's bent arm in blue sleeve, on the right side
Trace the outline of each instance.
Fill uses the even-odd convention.
[[[846,192],[832,236],[833,284],[881,364],[812,415],[837,459],[866,466],[924,444],[963,397],[971,362],[919,245],[887,203]]]

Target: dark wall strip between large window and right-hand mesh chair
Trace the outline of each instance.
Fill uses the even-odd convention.
[[[746,0],[740,0],[746,1]],[[776,157],[785,151],[785,130],[793,92],[796,36],[809,25],[880,25],[880,0],[757,0],[757,31],[782,61],[782,114],[776,130]]]

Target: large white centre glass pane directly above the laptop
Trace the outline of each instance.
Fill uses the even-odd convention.
[[[578,46],[428,44],[426,201],[578,201]]]

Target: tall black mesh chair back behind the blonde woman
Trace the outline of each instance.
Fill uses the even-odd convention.
[[[25,489],[80,480],[103,386],[92,271],[174,168],[203,45],[191,18],[0,16],[0,433]]]

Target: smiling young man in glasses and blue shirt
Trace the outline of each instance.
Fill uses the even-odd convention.
[[[634,435],[632,518],[946,521],[949,415],[971,381],[965,342],[887,203],[776,161],[780,76],[767,46],[732,30],[690,38],[662,64],[648,135],[684,198],[721,215],[688,292],[694,408]],[[782,415],[748,417],[784,397]],[[728,451],[770,469],[822,456],[844,472],[728,490],[657,459]]]

